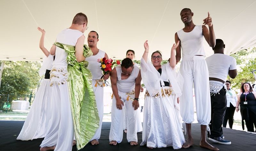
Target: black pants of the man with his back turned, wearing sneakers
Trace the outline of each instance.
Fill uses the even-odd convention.
[[[211,138],[220,137],[223,134],[222,123],[227,108],[226,90],[224,87],[220,90],[220,94],[211,95],[211,108],[211,124],[209,124],[211,134],[208,131],[208,136]]]

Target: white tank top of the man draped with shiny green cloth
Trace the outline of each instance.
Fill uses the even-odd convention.
[[[77,39],[82,35],[83,33],[81,31],[68,28],[60,32],[56,38],[56,42],[75,46]],[[67,56],[68,53],[66,53],[64,49],[56,47],[55,60],[53,61],[53,65],[68,65]]]

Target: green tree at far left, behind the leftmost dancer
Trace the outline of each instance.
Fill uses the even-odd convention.
[[[4,66],[0,94],[0,109],[9,101],[29,96],[37,88],[40,77],[38,70],[41,64],[38,61],[7,61]]]

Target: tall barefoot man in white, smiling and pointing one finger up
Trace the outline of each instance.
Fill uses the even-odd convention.
[[[205,38],[210,47],[215,46],[212,18],[208,13],[208,17],[203,20],[204,24],[208,25],[208,30],[205,25],[196,26],[192,20],[193,16],[194,13],[189,8],[182,9],[180,18],[185,27],[175,33],[175,42],[177,43],[180,40],[180,44],[176,48],[176,62],[180,61],[182,49],[180,73],[184,78],[182,96],[180,97],[180,114],[186,123],[186,130],[188,132],[188,139],[182,147],[188,148],[194,144],[191,133],[191,123],[194,121],[194,83],[197,121],[201,124],[200,147],[219,150],[207,143],[205,136],[206,127],[211,120],[211,99],[208,68],[204,60],[203,39]]]

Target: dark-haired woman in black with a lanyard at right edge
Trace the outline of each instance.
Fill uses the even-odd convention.
[[[239,95],[236,103],[236,112],[239,111],[242,116],[242,127],[244,130],[244,120],[247,131],[254,132],[253,123],[256,123],[256,92],[253,92],[250,83],[243,83],[241,86],[242,93]]]

